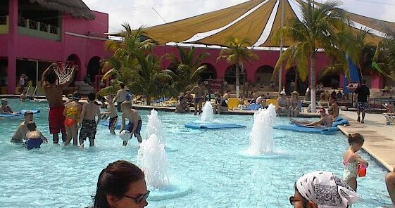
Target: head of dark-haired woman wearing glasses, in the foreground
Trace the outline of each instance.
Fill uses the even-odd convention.
[[[148,205],[144,173],[125,160],[108,164],[99,175],[93,208],[133,208]]]

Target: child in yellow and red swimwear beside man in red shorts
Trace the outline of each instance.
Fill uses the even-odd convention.
[[[67,133],[65,146],[70,144],[71,138],[73,138],[73,145],[77,146],[77,124],[82,110],[80,103],[78,103],[80,98],[80,93],[74,93],[73,98],[65,105],[65,110],[63,110],[63,115],[65,116],[65,130]]]

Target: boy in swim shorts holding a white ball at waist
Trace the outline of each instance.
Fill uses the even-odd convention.
[[[142,117],[140,117],[136,110],[132,109],[132,103],[129,101],[123,102],[120,109],[123,112],[120,132],[123,131],[125,127],[129,127],[127,130],[130,131],[130,135],[134,135],[137,137],[137,141],[142,143],[142,136],[140,135],[140,131],[142,130]],[[126,119],[129,120],[128,126],[126,126]],[[127,141],[123,141],[123,145],[126,146]]]

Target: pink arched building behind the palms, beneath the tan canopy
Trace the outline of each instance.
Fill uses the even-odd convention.
[[[279,51],[262,51],[253,50],[259,57],[259,60],[251,62],[251,64],[246,63],[244,65],[244,72],[241,74],[241,84],[244,82],[249,82],[249,84],[258,84],[260,86],[269,86],[272,78],[272,72],[274,70],[277,59],[280,56]],[[175,46],[156,46],[154,53],[156,56],[163,56],[165,53],[178,54],[177,48]],[[219,48],[198,48],[196,47],[195,55],[199,53],[210,53],[211,56],[205,60],[205,65],[208,65],[208,71],[203,74],[203,79],[225,79],[227,84],[234,84],[234,67],[226,63],[225,60],[217,61],[217,57],[220,53]],[[327,74],[325,77],[320,77],[320,70],[328,65],[330,60],[323,55],[323,53],[318,53],[318,58],[315,63],[315,74],[316,82],[319,84],[322,82],[324,86],[331,87],[333,85],[339,88],[343,87],[344,74]],[[168,68],[171,67],[169,60],[163,60],[161,67]],[[363,79],[367,79],[368,86],[372,89],[382,89],[383,87],[383,77],[380,74],[363,74]],[[278,84],[278,78],[275,77],[275,84]],[[295,82],[296,73],[293,68],[282,70],[282,85],[285,87],[287,92],[291,90],[291,82]],[[296,88],[299,92],[303,92],[308,85],[308,79],[306,83],[302,83],[299,79],[296,80]],[[276,87],[277,89],[277,87]]]

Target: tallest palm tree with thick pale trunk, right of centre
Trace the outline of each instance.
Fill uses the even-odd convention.
[[[345,11],[337,8],[340,6],[339,1],[326,1],[315,8],[311,0],[308,0],[307,3],[299,2],[302,20],[290,19],[288,25],[280,27],[275,33],[275,41],[284,37],[295,42],[293,46],[282,53],[282,56],[277,60],[275,70],[278,70],[280,65],[286,61],[286,68],[296,63],[296,71],[302,80],[306,80],[310,74],[311,106],[315,112],[315,59],[318,49],[323,48],[324,53],[335,56],[338,63],[341,64],[341,68],[346,72],[346,58],[339,56],[342,54],[339,48],[342,39],[338,34],[344,32],[348,19]],[[307,70],[308,65],[310,65],[310,72]]]

